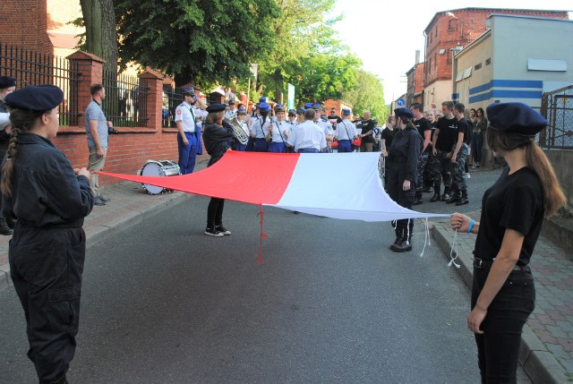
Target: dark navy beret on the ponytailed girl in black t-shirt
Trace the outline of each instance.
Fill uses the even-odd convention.
[[[547,126],[547,120],[523,103],[495,103],[487,107],[490,124],[500,132],[535,136]]]

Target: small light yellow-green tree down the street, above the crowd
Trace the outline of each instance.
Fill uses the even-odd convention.
[[[381,125],[389,113],[388,106],[384,103],[384,86],[381,80],[363,70],[358,71],[356,88],[344,92],[342,99],[352,104],[355,115],[362,115],[363,111],[369,110]]]

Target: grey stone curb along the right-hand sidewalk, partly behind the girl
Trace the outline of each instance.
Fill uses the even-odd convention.
[[[452,231],[444,228],[440,223],[433,223],[432,237],[444,252],[444,256],[449,260],[451,243],[454,235]],[[456,269],[459,277],[470,289],[474,277],[472,260],[474,256],[464,250],[458,250],[458,259],[456,262],[461,266]],[[534,383],[557,384],[567,381],[566,371],[563,366],[555,359],[553,354],[547,349],[539,337],[535,336],[533,330],[526,324],[521,334],[521,346],[519,347],[519,363],[526,371],[529,379]]]

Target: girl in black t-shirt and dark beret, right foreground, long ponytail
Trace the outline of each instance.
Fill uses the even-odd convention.
[[[487,108],[486,141],[508,167],[483,194],[482,218],[454,213],[450,225],[477,234],[472,311],[467,328],[475,332],[483,383],[516,382],[521,331],[535,307],[529,260],[543,217],[565,203],[565,196],[535,134],[547,121],[521,103]]]

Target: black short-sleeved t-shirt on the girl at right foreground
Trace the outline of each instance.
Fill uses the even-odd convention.
[[[543,224],[543,186],[531,168],[509,175],[509,167],[483,194],[482,218],[474,255],[483,260],[497,257],[506,228],[525,235],[519,265],[527,265]]]

